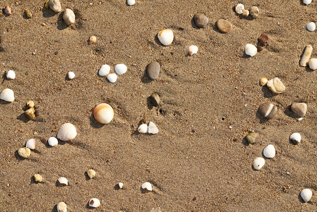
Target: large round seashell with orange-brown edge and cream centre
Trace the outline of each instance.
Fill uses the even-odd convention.
[[[107,103],[98,104],[93,111],[95,119],[101,124],[108,124],[113,119],[113,109]]]

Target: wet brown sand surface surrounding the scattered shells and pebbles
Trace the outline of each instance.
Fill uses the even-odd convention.
[[[11,16],[0,17],[0,90],[10,88],[15,101],[1,100],[0,210],[88,211],[316,211],[317,197],[304,203],[304,188],[316,192],[316,73],[299,66],[304,48],[317,47],[316,32],[305,25],[316,21],[317,3],[300,1],[61,1],[75,12],[67,27],[61,13],[44,8],[45,1],[1,1]],[[92,3],[92,5],[90,5]],[[242,3],[257,6],[257,19],[238,16],[232,9]],[[24,9],[33,13],[26,19]],[[193,15],[205,13],[209,24],[198,28]],[[232,23],[221,33],[220,18]],[[45,24],[43,24],[45,23]],[[170,28],[175,39],[162,46],[158,31]],[[265,33],[268,46],[255,57],[244,54]],[[88,45],[90,36],[97,43]],[[187,55],[190,45],[199,47]],[[33,52],[35,54],[33,54]],[[312,57],[317,57],[313,50]],[[159,78],[151,81],[146,65],[161,64]],[[101,65],[128,66],[126,74],[109,83],[98,76]],[[16,72],[9,81],[5,73]],[[73,71],[75,78],[67,79]],[[279,77],[286,91],[273,94],[259,79]],[[161,96],[151,107],[148,96]],[[28,120],[26,102],[33,100],[38,115]],[[259,104],[279,105],[275,118],[258,113]],[[106,102],[114,110],[106,125],[93,118],[92,109]],[[297,121],[293,102],[305,102],[307,114]],[[139,134],[142,119],[159,128],[155,135]],[[70,122],[77,129],[72,142],[49,148],[47,138]],[[230,128],[229,128],[230,127]],[[254,145],[244,137],[258,132]],[[289,136],[302,135],[299,145]],[[30,138],[37,146],[30,158],[17,150]],[[272,144],[273,159],[255,171],[252,161]],[[89,180],[86,171],[97,175]],[[43,183],[32,176],[40,173]],[[64,176],[69,185],[60,187]],[[141,184],[153,191],[144,193]],[[116,190],[116,184],[124,189]],[[156,210],[155,210],[156,209]]]

